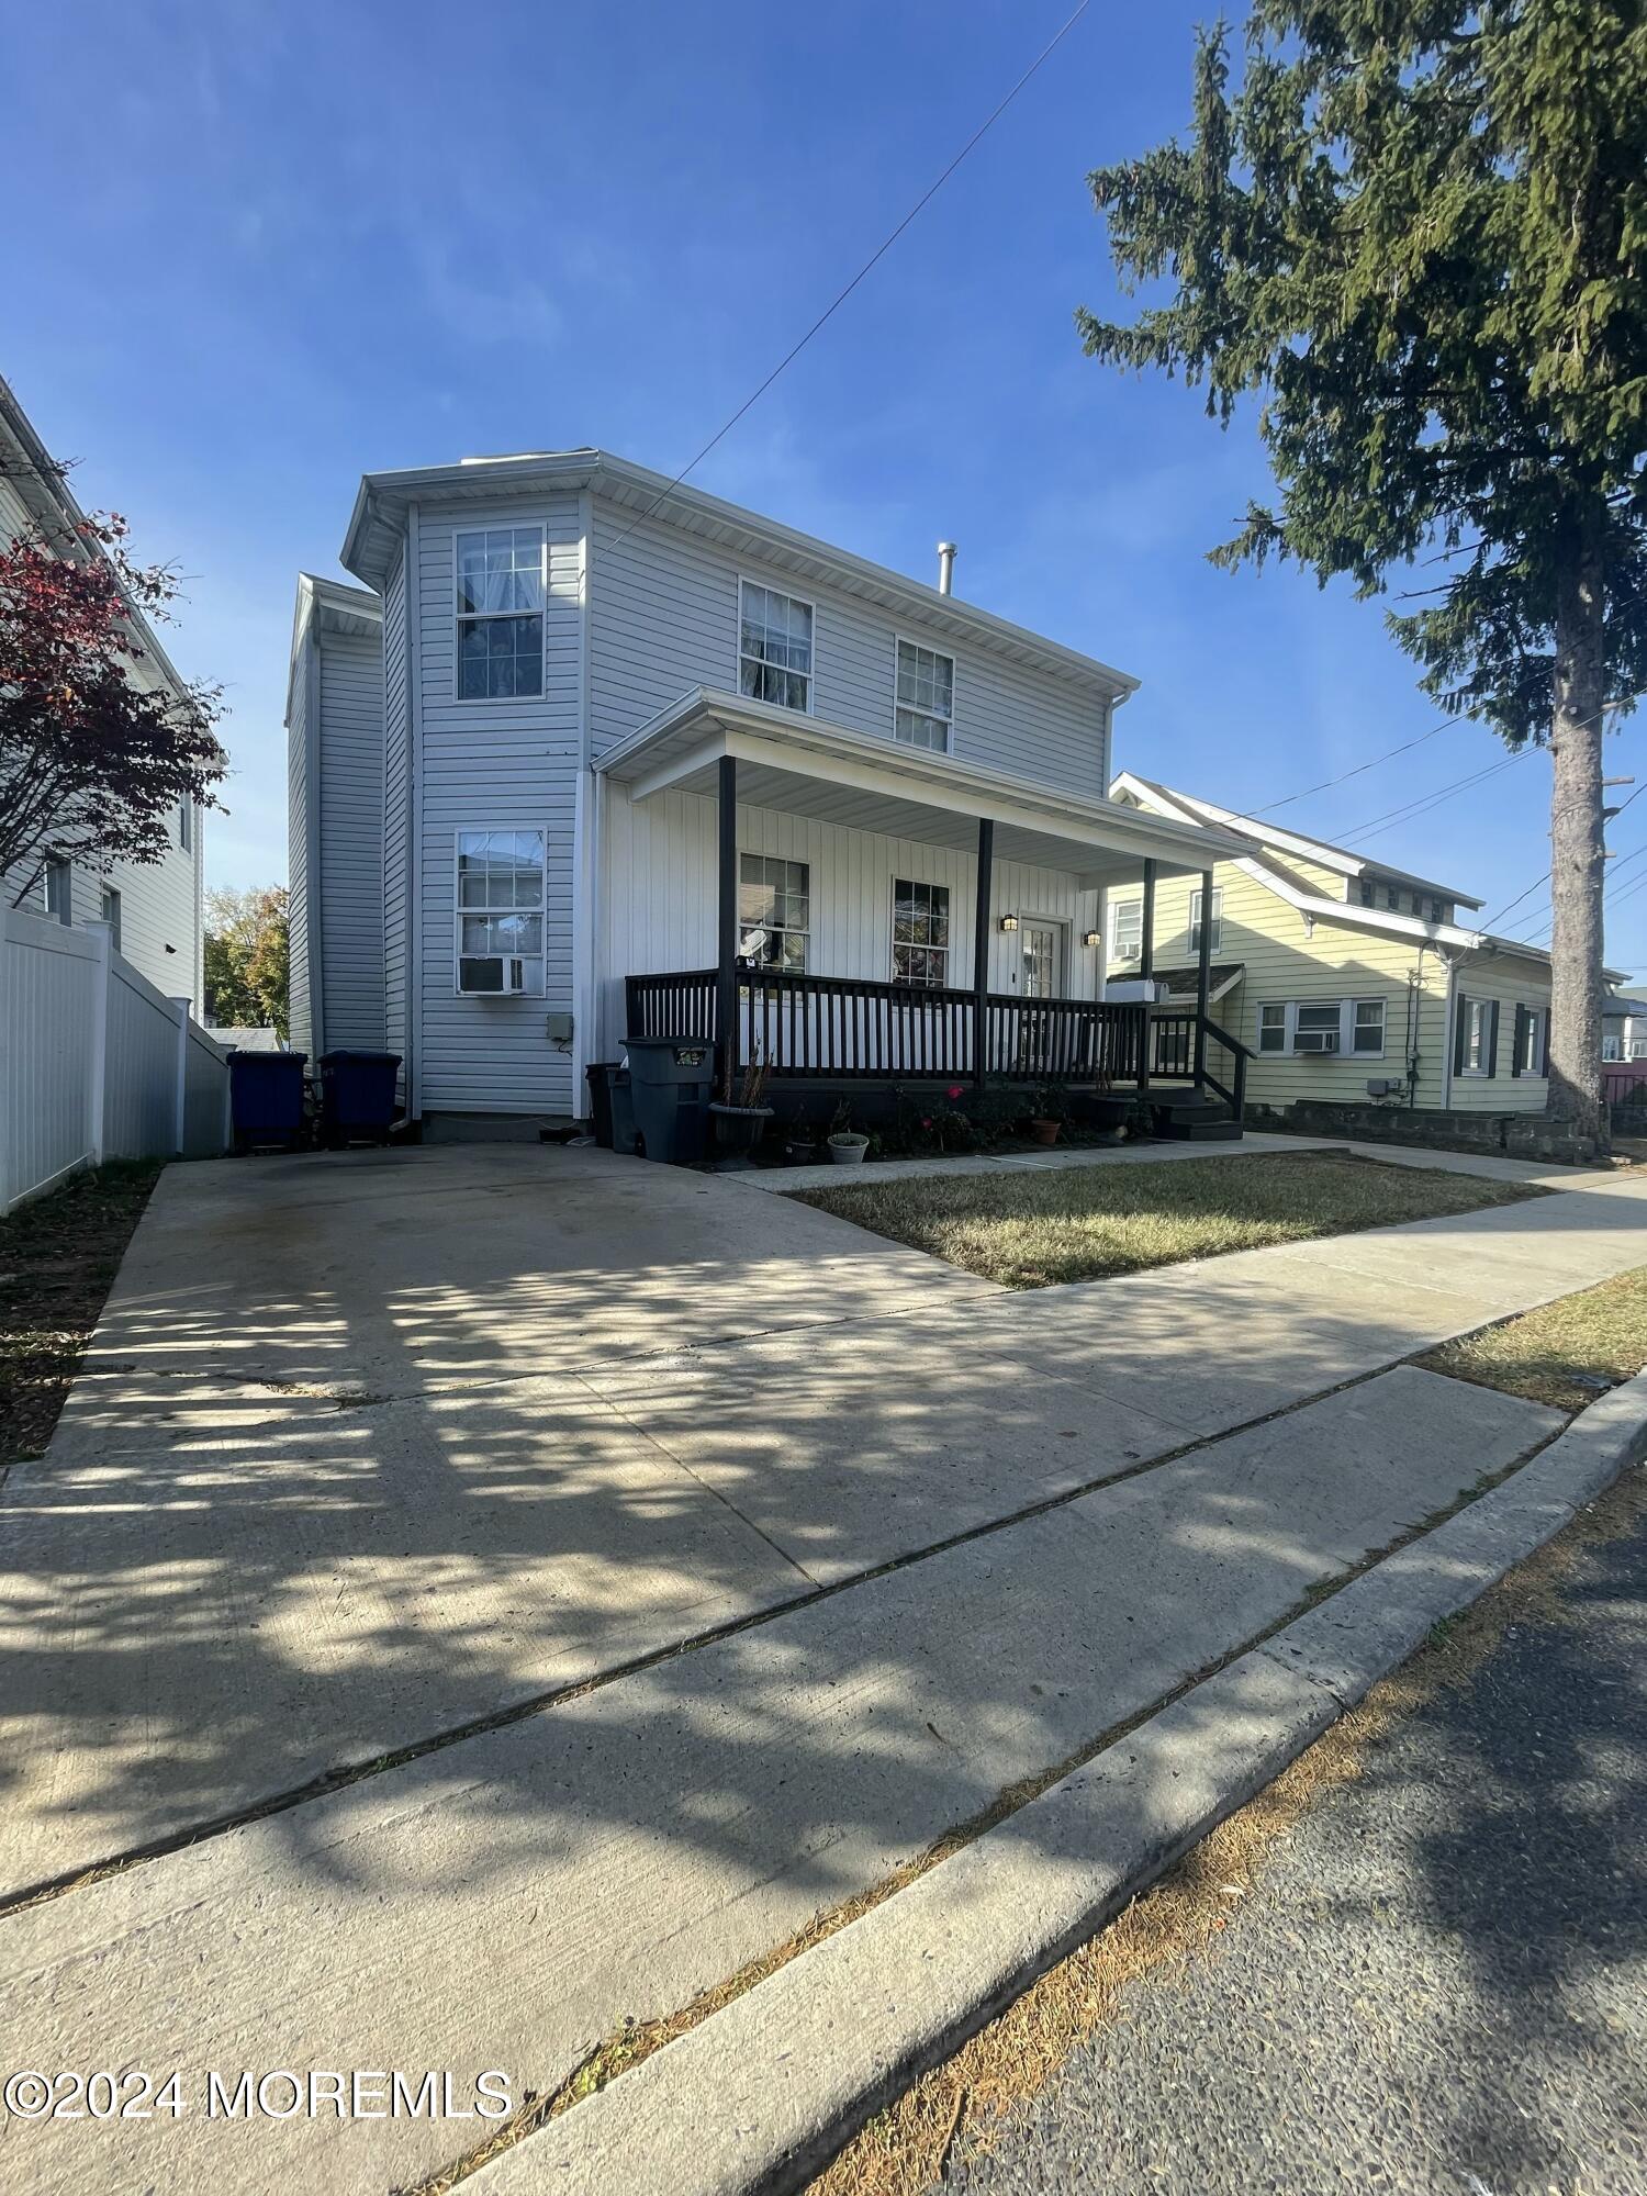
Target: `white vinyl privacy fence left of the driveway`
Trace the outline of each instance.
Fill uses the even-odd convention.
[[[0,907],[0,1212],[103,1159],[226,1144],[228,1054],[112,949]]]

